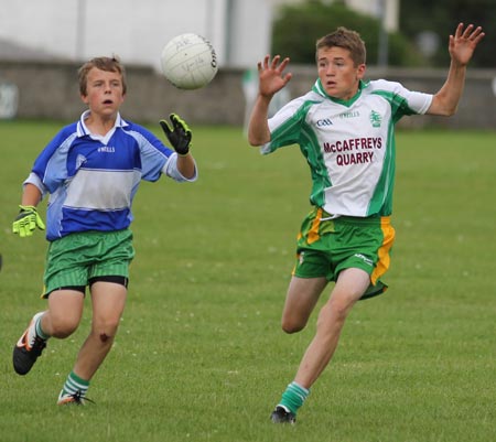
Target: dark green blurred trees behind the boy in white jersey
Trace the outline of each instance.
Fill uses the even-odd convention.
[[[496,22],[495,0],[401,0],[399,21],[400,32],[388,33],[390,66],[445,67],[450,60],[448,36],[460,22],[482,25],[486,32],[471,65],[495,65],[492,48],[496,33],[490,33],[490,24]],[[272,54],[289,56],[292,63],[314,64],[316,40],[337,26],[358,31],[366,43],[367,64],[378,64],[379,20],[341,1],[308,0],[281,7],[272,28]]]

